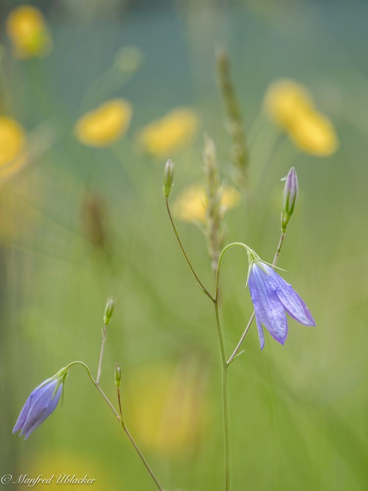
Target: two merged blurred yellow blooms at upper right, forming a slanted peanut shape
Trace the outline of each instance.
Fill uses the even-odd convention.
[[[302,84],[289,79],[273,82],[264,106],[301,150],[321,157],[336,151],[338,138],[331,121],[315,109],[311,94]]]

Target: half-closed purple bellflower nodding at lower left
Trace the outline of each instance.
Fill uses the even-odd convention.
[[[50,416],[59,402],[67,374],[67,371],[61,369],[31,392],[15,423],[13,433],[22,430],[20,436],[24,435],[27,439]]]

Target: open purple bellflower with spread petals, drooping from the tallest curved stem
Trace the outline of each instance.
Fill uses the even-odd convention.
[[[264,346],[262,325],[276,341],[285,343],[288,336],[286,313],[304,326],[315,326],[315,320],[307,305],[292,286],[258,256],[253,256],[250,261],[248,283],[256,314],[261,350]]]

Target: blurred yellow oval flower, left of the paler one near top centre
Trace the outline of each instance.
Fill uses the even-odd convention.
[[[111,99],[79,118],[75,133],[81,143],[105,147],[123,135],[131,122],[132,107],[124,99]]]

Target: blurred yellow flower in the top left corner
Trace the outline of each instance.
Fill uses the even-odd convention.
[[[31,5],[20,5],[12,10],[6,21],[6,30],[19,58],[47,55],[52,40],[42,12]]]

